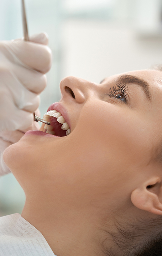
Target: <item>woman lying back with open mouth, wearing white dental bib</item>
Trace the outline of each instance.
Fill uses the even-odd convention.
[[[51,126],[3,154],[26,202],[0,219],[0,255],[162,255],[161,71],[60,88]]]

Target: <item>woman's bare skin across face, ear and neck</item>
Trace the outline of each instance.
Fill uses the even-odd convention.
[[[104,239],[113,245],[104,230],[115,231],[115,219],[162,215],[162,164],[154,160],[162,141],[162,73],[124,74],[148,82],[152,102],[134,83],[127,103],[109,96],[119,75],[101,84],[67,77],[60,102],[70,135],[29,134],[5,150],[4,160],[26,194],[22,217],[57,256],[104,255]]]

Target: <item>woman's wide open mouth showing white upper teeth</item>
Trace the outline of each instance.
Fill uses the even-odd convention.
[[[44,125],[44,132],[64,137],[70,134],[71,130],[65,118],[57,110],[50,110],[44,114],[43,119],[51,123]]]

